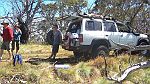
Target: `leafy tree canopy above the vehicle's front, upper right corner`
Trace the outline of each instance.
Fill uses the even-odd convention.
[[[136,29],[139,29],[139,27],[144,29],[145,27],[148,28],[147,25],[149,25],[150,1],[96,0],[92,11],[104,16],[112,16],[120,21],[129,21],[130,26],[138,27]]]

